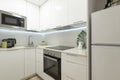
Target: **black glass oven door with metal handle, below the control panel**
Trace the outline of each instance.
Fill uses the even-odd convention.
[[[55,80],[61,80],[61,59],[44,54],[44,72]]]

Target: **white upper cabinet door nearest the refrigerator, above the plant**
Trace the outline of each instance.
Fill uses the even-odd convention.
[[[87,19],[87,0],[68,0],[68,23]]]

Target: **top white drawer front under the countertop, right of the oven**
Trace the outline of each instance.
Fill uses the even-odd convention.
[[[87,65],[87,57],[84,57],[84,56],[78,56],[78,55],[73,55],[69,53],[62,53],[62,59],[71,61],[73,63],[81,64],[81,65]]]

